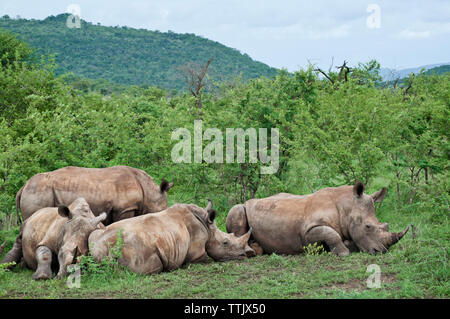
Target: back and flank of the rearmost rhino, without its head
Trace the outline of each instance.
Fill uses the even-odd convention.
[[[68,206],[78,197],[84,197],[97,216],[102,212],[141,209],[143,190],[126,166],[64,167],[28,180],[19,203],[23,220],[44,207]]]

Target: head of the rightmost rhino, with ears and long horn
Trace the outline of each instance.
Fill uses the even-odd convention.
[[[389,232],[387,223],[381,224],[375,216],[374,202],[381,202],[386,195],[386,188],[367,195],[365,186],[356,182],[353,186],[353,203],[349,215],[348,231],[351,239],[362,251],[375,254],[386,252],[408,231],[409,226],[400,233]]]

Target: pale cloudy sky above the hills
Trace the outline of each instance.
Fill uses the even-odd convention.
[[[450,62],[448,0],[1,0],[0,16],[44,19],[70,4],[89,22],[195,33],[289,71],[332,58],[396,69]]]

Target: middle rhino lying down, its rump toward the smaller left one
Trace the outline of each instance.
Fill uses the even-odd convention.
[[[166,210],[133,217],[95,230],[89,236],[94,260],[110,256],[110,249],[122,236],[119,264],[141,274],[159,273],[183,264],[203,261],[207,255],[215,261],[253,256],[247,245],[251,229],[241,237],[219,230],[215,210],[194,204],[175,204]]]

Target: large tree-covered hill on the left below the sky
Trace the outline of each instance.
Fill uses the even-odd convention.
[[[40,54],[55,53],[56,74],[73,72],[120,84],[184,89],[180,66],[203,65],[214,58],[209,75],[217,81],[242,75],[244,80],[271,77],[277,69],[247,54],[194,34],[106,27],[81,20],[68,28],[68,14],[44,20],[0,18],[0,28],[15,33]]]

